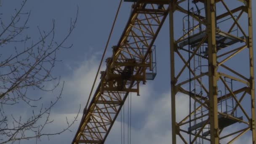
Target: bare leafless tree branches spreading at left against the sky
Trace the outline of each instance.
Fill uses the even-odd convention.
[[[40,140],[41,136],[52,136],[70,131],[69,128],[75,123],[78,117],[69,122],[66,117],[67,126],[55,133],[45,133],[46,125],[53,123],[50,120],[51,109],[61,99],[64,83],[55,101],[49,104],[33,94],[31,91],[53,92],[60,84],[60,77],[54,77],[51,73],[56,65],[58,51],[61,48],[71,48],[64,43],[75,29],[77,13],[74,20],[70,20],[70,27],[67,35],[59,42],[55,40],[55,21],[52,21],[52,28],[44,31],[37,27],[40,37],[33,41],[31,37],[24,36],[29,29],[29,12],[24,12],[27,0],[22,1],[20,8],[15,9],[11,20],[0,19],[0,47],[8,48],[11,53],[0,53],[0,144],[15,142],[27,139]],[[2,3],[0,2],[2,6]],[[35,39],[35,36],[33,36]],[[16,46],[13,46],[16,45]],[[23,45],[23,46],[21,46]],[[56,83],[48,87],[49,83]],[[5,107],[17,107],[17,104],[24,102],[28,107],[38,108],[33,110],[29,117],[17,117],[16,114],[5,113]],[[46,103],[46,104],[45,104]],[[80,109],[79,109],[80,111]]]

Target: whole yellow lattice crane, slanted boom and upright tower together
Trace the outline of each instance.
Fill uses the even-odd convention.
[[[232,143],[244,135],[256,144],[252,0],[124,1],[133,3],[131,15],[72,143],[104,144],[128,94],[155,79],[153,45],[169,16],[172,144]],[[189,99],[181,121],[177,93]]]

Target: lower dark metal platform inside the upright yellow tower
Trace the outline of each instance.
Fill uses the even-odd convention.
[[[234,120],[231,117],[233,117],[232,115],[230,115],[230,117],[224,116],[224,115],[218,115],[218,121],[219,121],[219,129],[222,128],[226,128],[229,125],[233,125],[237,122],[239,122],[238,120]],[[243,116],[242,117],[236,117],[239,120],[243,120]],[[205,125],[205,123],[207,122],[207,120],[197,123],[196,125],[192,125],[190,128],[188,128],[188,132],[191,133],[192,131],[201,128],[203,125]],[[208,122],[207,124],[210,124],[210,122]],[[210,131],[206,131],[203,133],[202,136],[208,136],[210,134]]]

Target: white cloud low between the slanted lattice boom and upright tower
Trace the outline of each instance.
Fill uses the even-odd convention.
[[[147,86],[148,91],[141,92],[141,97],[144,94],[149,94],[148,99],[145,101],[139,101],[136,104],[146,105],[146,109],[139,109],[144,113],[147,113],[145,117],[133,117],[132,123],[139,123],[143,125],[141,128],[136,128],[132,124],[132,144],[169,144],[171,142],[171,95],[170,92],[158,93],[155,95],[153,85]],[[185,96],[179,94],[177,96],[177,101],[186,102],[188,100],[184,99]],[[137,97],[133,98],[134,101]],[[132,107],[138,107],[132,105]],[[187,113],[183,109],[188,109],[187,105],[178,105],[177,112],[179,112],[179,117],[181,119]],[[119,120],[119,119],[118,119]],[[125,128],[126,128],[125,123]],[[125,137],[127,136],[127,128],[125,129]],[[120,121],[116,121],[110,135],[106,141],[106,144],[119,144],[120,139]],[[127,141],[127,139],[125,140]],[[178,144],[181,140],[178,139]]]

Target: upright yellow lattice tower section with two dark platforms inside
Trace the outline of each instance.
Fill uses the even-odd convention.
[[[171,0],[173,144],[256,143],[251,1]],[[190,107],[182,118],[177,93]]]

